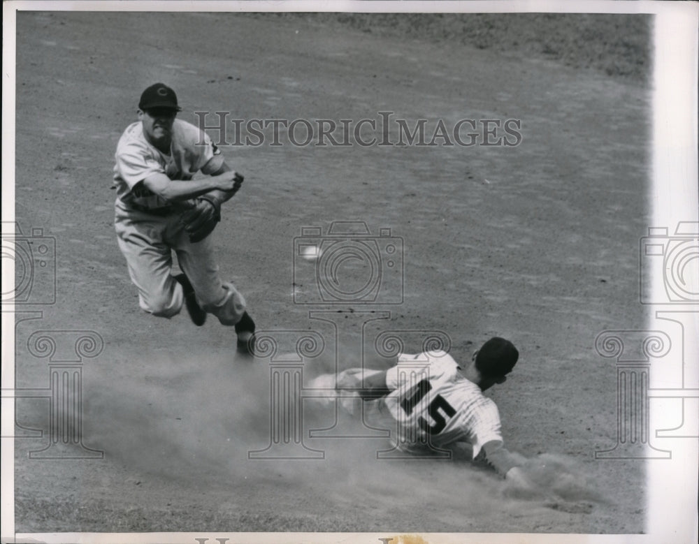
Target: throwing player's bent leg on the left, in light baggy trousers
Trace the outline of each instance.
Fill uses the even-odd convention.
[[[117,242],[138,288],[139,305],[154,316],[170,318],[180,313],[184,295],[171,275],[172,253],[160,237],[162,228],[161,221],[145,214],[117,209]]]

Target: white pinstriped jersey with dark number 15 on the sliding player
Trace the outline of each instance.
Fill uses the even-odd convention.
[[[380,411],[388,409],[396,420],[402,450],[423,453],[468,442],[476,457],[484,443],[503,440],[498,407],[445,351],[401,354],[386,381],[391,393],[378,401]]]

